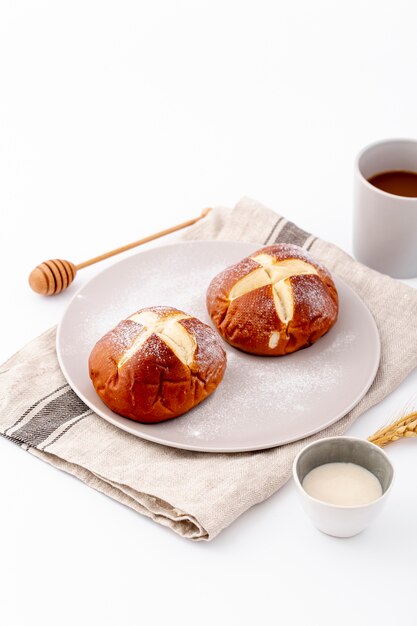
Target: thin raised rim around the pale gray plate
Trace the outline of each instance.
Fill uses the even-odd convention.
[[[375,333],[375,337],[377,339],[377,346],[376,346],[376,351],[375,351],[375,355],[374,355],[374,363],[373,363],[373,367],[372,367],[372,374],[369,376],[369,380],[368,383],[365,385],[364,389],[362,390],[361,394],[359,396],[357,396],[355,398],[355,400],[353,400],[347,407],[345,407],[342,411],[340,411],[335,417],[333,417],[331,420],[329,420],[328,422],[326,422],[325,424],[320,425],[320,427],[317,428],[313,428],[311,430],[309,430],[308,432],[303,433],[302,437],[290,437],[288,439],[284,439],[284,440],[280,440],[278,443],[268,443],[268,444],[260,444],[260,445],[250,445],[250,446],[238,446],[236,448],[230,448],[230,447],[219,447],[219,446],[215,446],[213,448],[210,447],[204,447],[202,448],[199,445],[193,445],[193,444],[178,444],[176,442],[170,442],[170,441],[166,441],[166,439],[155,436],[155,435],[148,435],[148,433],[139,433],[135,430],[135,425],[136,424],[141,424],[141,422],[135,422],[133,420],[128,419],[127,417],[123,417],[122,415],[118,415],[117,413],[114,413],[113,411],[111,412],[111,415],[106,415],[103,411],[100,411],[100,409],[97,408],[97,406],[93,405],[93,403],[91,403],[89,401],[89,399],[82,393],[80,392],[78,389],[75,389],[72,385],[71,382],[71,376],[69,375],[66,366],[65,366],[65,362],[62,358],[62,354],[61,354],[61,350],[60,350],[60,345],[61,345],[61,333],[62,333],[62,329],[63,329],[63,325],[65,322],[65,318],[73,304],[73,302],[76,300],[76,298],[78,298],[79,294],[82,293],[84,291],[84,289],[86,289],[90,283],[94,282],[100,275],[108,272],[110,269],[113,269],[115,266],[118,265],[122,265],[123,263],[126,262],[131,262],[132,259],[137,258],[138,256],[142,255],[142,254],[146,254],[147,252],[151,252],[153,250],[161,250],[164,248],[172,248],[172,247],[183,247],[183,246],[196,246],[199,244],[215,244],[215,245],[253,245],[253,246],[263,246],[263,244],[259,244],[256,242],[250,242],[250,241],[236,241],[236,240],[225,240],[225,239],[196,239],[196,240],[190,240],[190,241],[172,241],[172,242],[168,242],[165,243],[164,245],[161,246],[153,246],[150,248],[147,248],[145,250],[138,250],[136,251],[134,254],[131,254],[123,259],[119,259],[118,261],[112,263],[111,265],[103,268],[102,270],[100,270],[99,272],[97,272],[96,274],[94,274],[94,276],[92,276],[91,278],[89,278],[89,280],[87,280],[83,285],[81,285],[77,291],[74,293],[74,295],[72,296],[72,298],[69,300],[69,302],[67,303],[65,310],[61,316],[61,319],[58,323],[57,326],[57,332],[56,332],[56,339],[55,339],[55,349],[56,349],[56,354],[57,354],[57,359],[58,359],[58,363],[59,366],[61,368],[61,371],[64,375],[64,378],[66,380],[66,382],[69,384],[69,386],[71,387],[71,389],[74,391],[74,393],[92,410],[94,411],[94,413],[96,413],[99,417],[101,417],[102,419],[104,419],[106,422],[108,422],[109,424],[112,424],[113,426],[115,426],[116,428],[122,430],[123,432],[127,432],[135,437],[139,437],[140,439],[143,439],[145,441],[150,441],[152,443],[156,443],[158,445],[163,445],[163,446],[168,446],[170,448],[174,448],[174,449],[178,449],[178,450],[189,450],[192,452],[203,452],[206,454],[235,454],[235,453],[243,453],[243,452],[256,452],[259,450],[270,450],[272,448],[277,448],[280,446],[284,446],[287,445],[289,443],[295,443],[296,441],[302,441],[308,437],[311,437],[312,435],[315,435],[323,430],[325,430],[326,428],[328,428],[329,426],[332,426],[333,424],[335,424],[336,422],[338,422],[340,419],[342,419],[342,417],[344,417],[345,415],[347,415],[355,406],[357,406],[359,404],[359,402],[365,397],[365,395],[367,394],[367,392],[369,391],[372,383],[375,380],[376,374],[378,372],[379,369],[379,364],[380,364],[380,360],[381,360],[381,338],[379,335],[379,330],[378,330],[378,326],[375,322],[374,316],[372,315],[371,311],[369,310],[369,307],[367,306],[367,304],[363,301],[363,299],[356,293],[356,291],[342,278],[340,278],[336,272],[332,271],[331,275],[332,277],[336,277],[337,281],[340,281],[345,288],[347,288],[347,290],[350,292],[351,295],[353,295],[354,298],[357,298],[361,305],[363,306],[364,310],[366,311],[366,314],[368,316],[368,319],[371,322],[371,326],[373,326],[373,330]],[[98,398],[100,400],[100,398]],[[102,402],[102,401],[101,401]],[[114,417],[113,417],[114,415]],[[181,416],[180,416],[181,417]],[[121,421],[121,423],[120,423]],[[125,424],[126,422],[126,424]]]

